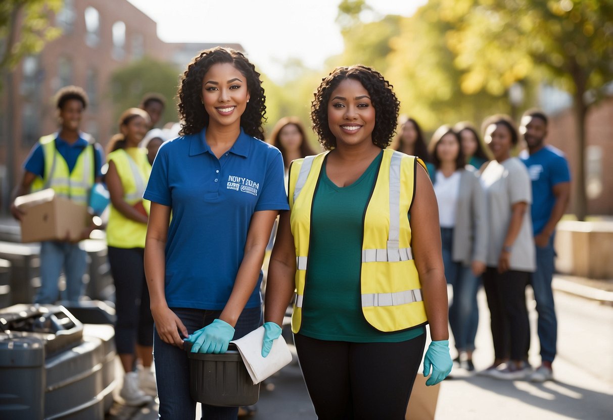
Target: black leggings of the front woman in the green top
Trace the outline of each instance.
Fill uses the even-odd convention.
[[[425,334],[400,343],[349,343],[294,335],[318,419],[403,420]]]

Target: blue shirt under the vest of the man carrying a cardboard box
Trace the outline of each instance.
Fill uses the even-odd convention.
[[[72,144],[67,143],[66,140],[59,137],[59,135],[56,135],[55,137],[55,148],[64,158],[64,160],[66,160],[69,172],[72,172],[75,165],[77,164],[77,159],[79,155],[89,145],[89,142],[85,140],[85,137],[89,137],[89,135],[86,135],[85,133],[80,134],[77,141]],[[102,162],[104,162],[104,152],[102,152],[102,147],[98,143],[94,143],[94,150],[96,151],[96,153],[94,154],[94,161],[96,164],[96,177],[99,177],[102,176]],[[28,172],[40,176],[40,178],[44,178],[45,154],[39,142],[37,142],[30,151],[30,154],[27,157],[25,163],[23,163],[23,168]]]

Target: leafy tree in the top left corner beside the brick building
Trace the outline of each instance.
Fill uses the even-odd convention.
[[[61,34],[50,17],[62,6],[62,0],[0,2],[0,72],[12,69],[27,54],[39,53],[45,42]]]

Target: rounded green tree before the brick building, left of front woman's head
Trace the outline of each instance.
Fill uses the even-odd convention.
[[[161,123],[178,121],[177,88],[180,70],[167,62],[144,57],[133,61],[111,75],[113,116],[131,107],[137,107],[148,92],[157,92],[166,98],[166,109]]]

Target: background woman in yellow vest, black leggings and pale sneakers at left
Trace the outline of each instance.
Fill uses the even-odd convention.
[[[143,193],[151,173],[147,149],[139,143],[147,133],[149,115],[129,108],[120,118],[120,133],[107,146],[106,182],[112,206],[107,224],[109,263],[115,282],[115,342],[126,372],[120,396],[128,405],[142,405],[155,396],[153,317],[145,280],[143,255],[150,202]],[[134,372],[135,357],[143,363]],[[140,373],[140,375],[139,375]]]

